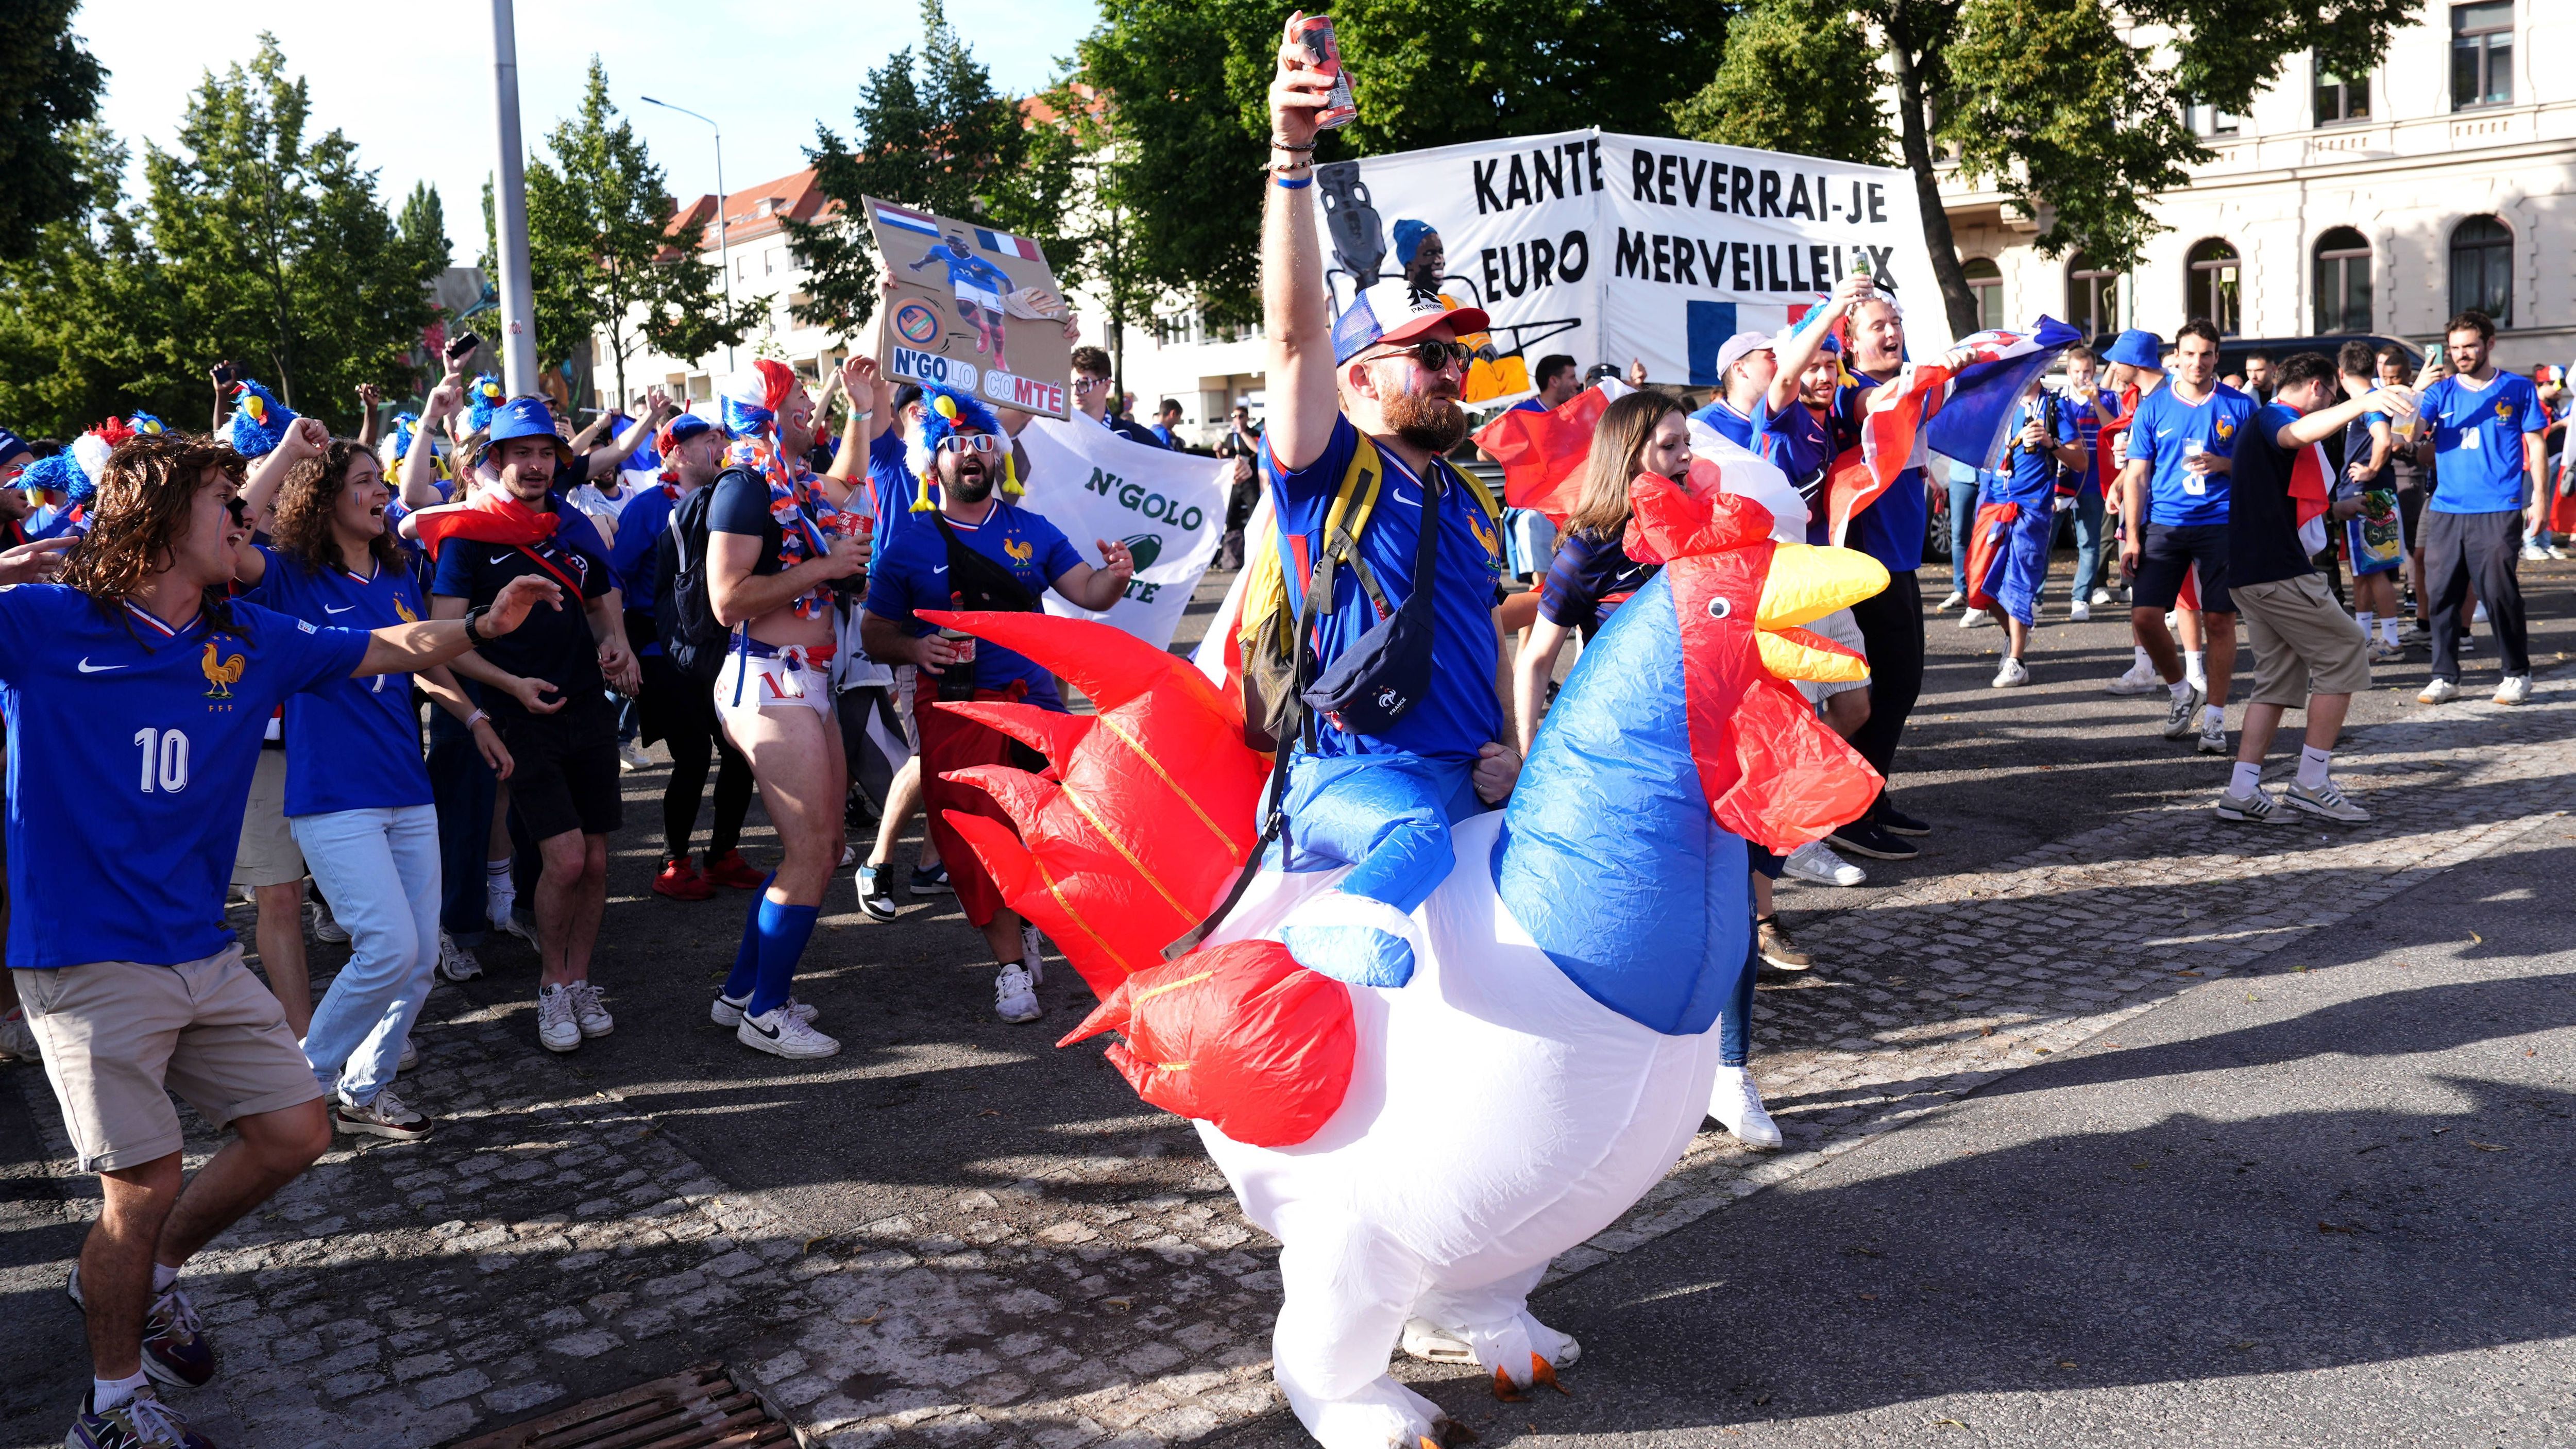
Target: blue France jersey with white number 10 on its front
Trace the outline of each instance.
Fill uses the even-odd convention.
[[[170,629],[54,583],[0,590],[8,964],[173,967],[232,941],[224,884],[268,717],[366,657],[358,629],[245,601],[232,621]]]

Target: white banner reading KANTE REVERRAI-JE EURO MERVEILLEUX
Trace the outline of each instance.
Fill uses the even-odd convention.
[[[1492,315],[1471,405],[1546,353],[1713,387],[1726,338],[1777,333],[1862,263],[1911,302],[1914,356],[1950,345],[1904,170],[1587,129],[1329,162],[1314,191],[1337,309],[1404,276]]]

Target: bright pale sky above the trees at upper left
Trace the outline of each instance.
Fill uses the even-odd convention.
[[[920,10],[902,3],[520,0],[515,10],[526,144],[541,150],[544,134],[580,106],[582,75],[598,54],[611,98],[652,147],[675,196],[716,191],[714,134],[639,95],[703,111],[724,126],[724,183],[742,191],[804,170],[817,121],[848,139],[868,70],[922,39]],[[708,21],[711,13],[721,21]],[[981,0],[971,13],[966,5],[948,13],[994,85],[1012,93],[1054,80],[1056,62],[1095,23],[1092,0]],[[304,75],[314,131],[337,126],[358,144],[389,209],[415,180],[435,186],[456,263],[469,266],[482,250],[482,183],[495,162],[492,26],[489,8],[477,3],[88,0],[72,31],[108,67],[100,121],[134,150],[129,191],[142,186],[144,142],[170,147],[206,70],[250,62],[263,28],[278,36],[289,72]]]

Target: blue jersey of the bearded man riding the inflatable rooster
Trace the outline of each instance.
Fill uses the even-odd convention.
[[[1360,446],[1360,431],[1350,418],[1334,418],[1332,441],[1311,464],[1288,472],[1270,454],[1262,438],[1262,477],[1270,485],[1270,503],[1278,511],[1280,567],[1288,575],[1288,608],[1298,608],[1306,583],[1314,578],[1316,552],[1324,547],[1324,516],[1342,487],[1342,469]],[[1396,454],[1378,449],[1386,477],[1378,487],[1378,505],[1360,529],[1358,557],[1386,590],[1386,603],[1401,606],[1412,596],[1414,544],[1422,539],[1422,482]],[[1316,719],[1316,753],[1321,755],[1391,755],[1417,753],[1432,761],[1473,761],[1486,740],[1502,737],[1502,699],[1494,694],[1494,580],[1502,578],[1502,536],[1484,516],[1484,505],[1468,495],[1466,482],[1448,462],[1432,467],[1445,472],[1440,511],[1432,521],[1440,529],[1432,544],[1432,683],[1419,704],[1396,719],[1386,735],[1345,735],[1329,719]],[[1378,624],[1376,606],[1360,588],[1358,570],[1334,572],[1332,598],[1324,601],[1316,624],[1316,660],[1332,668],[1342,650],[1360,642],[1360,634]]]

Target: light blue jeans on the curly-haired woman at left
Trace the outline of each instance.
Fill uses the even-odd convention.
[[[286,822],[348,931],[348,964],[304,1031],[304,1060],[327,1093],[366,1106],[394,1080],[402,1042],[438,969],[438,810],[335,810]]]

